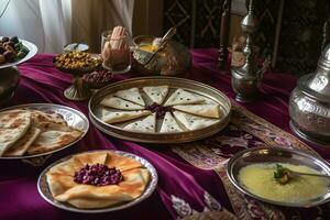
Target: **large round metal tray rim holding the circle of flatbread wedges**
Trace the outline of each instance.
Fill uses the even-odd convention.
[[[222,118],[219,122],[194,131],[183,131],[176,133],[143,133],[143,132],[132,132],[125,131],[121,127],[117,124],[108,124],[103,122],[100,117],[100,101],[108,95],[113,94],[121,89],[129,89],[133,87],[144,87],[144,86],[164,86],[167,85],[169,87],[169,92],[182,88],[187,91],[191,91],[198,94],[200,96],[207,97],[220,105],[220,111],[222,112]],[[142,95],[143,96],[143,95]],[[147,99],[144,99],[146,105]],[[134,142],[143,142],[143,143],[185,143],[191,142],[196,140],[200,140],[210,135],[213,135],[221,131],[230,121],[231,114],[231,102],[229,98],[217,90],[213,87],[207,86],[201,82],[197,82],[189,79],[176,78],[176,77],[139,77],[133,79],[128,79],[123,81],[119,81],[116,84],[111,84],[100,90],[98,90],[89,100],[89,119],[91,123],[94,123],[99,130],[102,132],[119,138],[123,140],[134,141]]]

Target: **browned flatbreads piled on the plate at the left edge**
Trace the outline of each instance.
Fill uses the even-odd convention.
[[[76,141],[81,134],[57,113],[32,109],[0,112],[0,156],[54,151]]]

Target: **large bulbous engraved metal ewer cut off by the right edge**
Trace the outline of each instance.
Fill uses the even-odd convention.
[[[300,138],[330,146],[330,44],[314,74],[299,78],[289,100],[290,128]]]

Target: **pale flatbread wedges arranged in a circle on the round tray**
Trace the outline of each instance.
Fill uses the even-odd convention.
[[[218,102],[180,88],[169,97],[168,91],[168,86],[119,90],[101,100],[101,120],[107,123],[132,120],[123,129],[134,132],[174,133],[202,129],[217,123],[221,118]],[[147,97],[150,101],[143,97]],[[163,120],[156,120],[155,112],[146,109],[146,102],[163,105],[172,111],[167,111]],[[160,129],[157,122],[161,122]]]

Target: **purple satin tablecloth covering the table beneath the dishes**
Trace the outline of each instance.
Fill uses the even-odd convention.
[[[229,70],[217,70],[217,51],[194,50],[191,54],[194,66],[185,77],[211,85],[233,98]],[[53,67],[53,57],[51,54],[40,54],[19,66],[22,73],[21,82],[9,106],[52,102],[73,107],[88,116],[87,101],[75,102],[64,98],[63,91],[70,85],[72,78]],[[113,81],[136,76],[140,75],[136,73],[119,75]],[[295,84],[296,78],[292,76],[267,73],[263,82],[263,99],[244,107],[290,132],[287,103]],[[46,165],[69,153],[96,148],[127,151],[148,160],[160,176],[155,193],[128,210],[92,216],[59,210],[41,198],[36,179]],[[320,147],[315,150],[330,161],[330,151]],[[180,213],[191,212],[190,208],[196,211],[220,209],[233,211],[227,193],[221,187],[222,183],[213,170],[204,170],[188,164],[169,151],[169,146],[118,140],[105,135],[92,124],[82,141],[68,151],[53,155],[43,167],[1,162],[0,172],[0,219],[176,219]],[[189,206],[186,206],[186,202]]]

